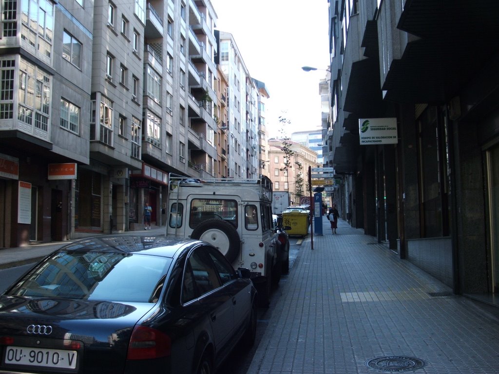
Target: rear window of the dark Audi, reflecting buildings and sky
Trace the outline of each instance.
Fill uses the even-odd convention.
[[[171,258],[133,253],[56,252],[21,278],[12,296],[155,302]]]

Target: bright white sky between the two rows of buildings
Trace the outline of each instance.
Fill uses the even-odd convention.
[[[327,0],[211,0],[217,29],[230,32],[251,78],[265,83],[269,138],[321,127],[319,81],[329,66]],[[302,66],[316,71],[305,72]]]

